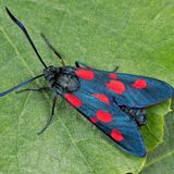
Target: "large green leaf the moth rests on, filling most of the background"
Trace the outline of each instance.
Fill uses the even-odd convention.
[[[0,91],[42,72],[42,65],[8,7],[27,27],[47,64],[60,65],[45,46],[42,32],[67,64],[80,61],[101,70],[140,74],[174,85],[171,1],[20,1],[0,3]],[[44,79],[26,87],[44,86]],[[0,98],[0,173],[124,174],[138,173],[146,158],[122,152],[101,132],[60,99],[55,117],[41,136],[52,103],[51,94],[10,94]],[[148,111],[142,135],[151,151],[163,137],[166,101]]]

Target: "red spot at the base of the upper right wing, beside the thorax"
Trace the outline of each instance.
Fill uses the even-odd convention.
[[[84,78],[87,80],[94,79],[95,78],[95,73],[91,70],[85,70],[85,69],[77,69],[75,71],[75,74],[79,77],[79,78]]]

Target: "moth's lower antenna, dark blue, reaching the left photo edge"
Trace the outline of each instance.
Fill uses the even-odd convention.
[[[28,79],[28,80],[26,80],[26,82],[24,82],[24,83],[22,83],[22,84],[20,84],[20,85],[17,85],[17,86],[11,88],[11,89],[9,89],[9,90],[5,90],[5,91],[3,91],[3,92],[0,94],[0,97],[3,97],[3,96],[5,96],[5,95],[8,95],[8,94],[10,94],[10,92],[12,92],[12,91],[21,88],[22,86],[27,85],[27,84],[32,83],[33,80],[35,80],[35,79],[37,79],[37,78],[40,78],[40,77],[42,77],[42,76],[44,76],[44,74],[40,74],[40,75],[38,75],[38,76],[36,76],[36,77],[33,77],[33,78],[30,78],[30,79]]]

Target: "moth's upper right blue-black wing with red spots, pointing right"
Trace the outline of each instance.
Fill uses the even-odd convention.
[[[84,90],[104,92],[119,105],[146,108],[174,96],[172,86],[150,77],[85,69],[75,72]]]

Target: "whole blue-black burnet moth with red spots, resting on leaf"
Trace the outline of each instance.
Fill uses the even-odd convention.
[[[172,98],[173,87],[159,79],[116,73],[116,70],[113,72],[94,70],[79,62],[75,62],[75,66],[66,66],[60,53],[50,45],[45,35],[41,35],[62,63],[60,67],[47,66],[24,25],[8,8],[7,12],[23,30],[45,69],[40,75],[1,92],[0,97],[44,77],[49,86],[17,91],[52,90],[55,94],[51,116],[38,134],[47,129],[54,114],[55,101],[59,97],[63,97],[123,151],[135,157],[145,157],[146,147],[139,132],[139,127],[147,122],[145,109]]]

